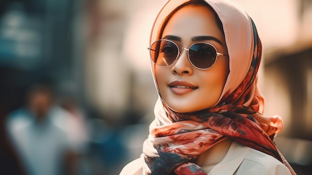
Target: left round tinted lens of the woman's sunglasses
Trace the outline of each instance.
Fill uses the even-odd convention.
[[[159,66],[168,66],[174,62],[178,47],[171,41],[158,40],[150,49],[152,60]]]

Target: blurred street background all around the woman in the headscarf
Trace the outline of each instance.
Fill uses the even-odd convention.
[[[157,94],[149,34],[165,0],[0,1],[0,174],[117,175],[142,152]],[[312,0],[233,0],[263,43],[265,115],[312,172]]]

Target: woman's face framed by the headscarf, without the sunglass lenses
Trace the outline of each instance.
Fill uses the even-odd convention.
[[[204,6],[186,6],[176,11],[164,27],[161,39],[171,40],[179,48],[207,42],[218,52],[228,55],[225,38],[216,24],[214,13]],[[155,67],[162,100],[171,110],[180,113],[214,106],[229,73],[229,57],[218,56],[212,67],[201,70],[190,63],[186,50],[180,51],[179,58],[171,65]]]

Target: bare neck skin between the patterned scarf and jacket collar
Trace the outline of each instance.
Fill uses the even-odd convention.
[[[209,173],[211,169],[220,163],[227,154],[232,144],[231,139],[226,139],[215,146],[211,147],[205,153],[201,154],[195,161],[206,173]]]

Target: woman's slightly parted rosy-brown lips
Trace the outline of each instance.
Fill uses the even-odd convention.
[[[198,87],[185,81],[172,81],[169,88],[174,94],[183,95],[185,93],[196,90]]]

